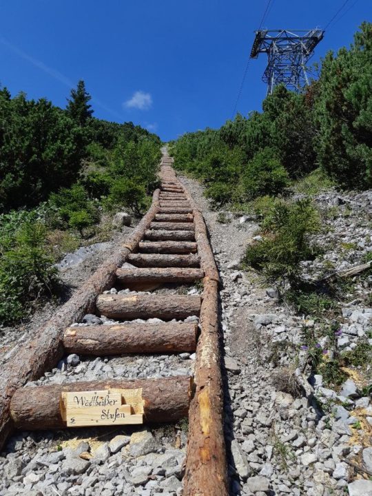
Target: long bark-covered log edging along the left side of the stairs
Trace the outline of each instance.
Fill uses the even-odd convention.
[[[130,251],[137,247],[145,230],[154,220],[159,210],[158,197],[159,190],[156,189],[152,206],[126,242],[122,243],[118,250],[83,284],[81,289],[56,311],[34,337],[12,355],[12,360],[1,367],[0,451],[13,428],[9,405],[14,391],[30,380],[37,380],[61,360],[63,333],[66,327],[76,320],[81,320],[85,313],[94,312],[96,296],[114,285],[116,269],[123,265]]]

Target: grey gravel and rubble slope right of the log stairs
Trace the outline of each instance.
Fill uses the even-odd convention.
[[[276,289],[267,287],[256,273],[239,270],[258,225],[248,216],[229,212],[231,222],[218,223],[218,212],[209,209],[203,187],[189,178],[182,180],[203,210],[223,282],[225,437],[231,495],[328,496],[344,495],[348,490],[353,496],[369,494],[372,482],[359,480],[362,476],[343,460],[372,471],[370,398],[356,393],[353,380],[338,392],[322,387],[319,375],[310,378],[313,384],[315,380],[314,387],[309,384],[298,366],[304,363],[306,351],[298,353],[298,349],[304,327],[317,324],[280,304]],[[315,200],[318,207],[331,209],[332,218],[327,221],[329,230],[316,238],[327,247],[325,254],[304,264],[309,280],[320,275],[324,260],[328,260],[327,267],[332,262],[333,270],[347,269],[372,249],[371,192],[341,197],[331,191]],[[353,247],[347,252],[340,247],[344,243],[350,248],[351,242]],[[360,285],[356,292],[365,296],[367,291],[368,287]],[[361,300],[342,310],[338,345],[344,349],[353,349],[371,331],[372,310],[362,307]],[[283,374],[287,378],[293,372],[302,380],[306,395],[300,391],[291,395],[278,388],[274,378],[283,378]],[[329,413],[318,409],[314,396],[328,406],[332,397]],[[364,415],[358,415],[358,408],[359,412],[364,409]]]

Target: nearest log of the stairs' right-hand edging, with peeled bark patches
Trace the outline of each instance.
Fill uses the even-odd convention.
[[[196,391],[189,409],[183,494],[228,496],[223,435],[223,392],[218,333],[218,282],[205,278],[201,333],[195,364]]]

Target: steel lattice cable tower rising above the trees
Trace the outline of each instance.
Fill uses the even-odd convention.
[[[267,83],[267,94],[278,84],[284,84],[299,92],[307,79],[307,61],[313,55],[316,45],[323,39],[324,30],[310,31],[260,30],[251,50],[251,59],[260,53],[267,54],[267,68],[262,81]]]

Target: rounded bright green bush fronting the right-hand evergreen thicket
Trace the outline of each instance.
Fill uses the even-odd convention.
[[[241,184],[247,199],[276,195],[289,185],[289,176],[274,150],[267,147],[248,162]]]

